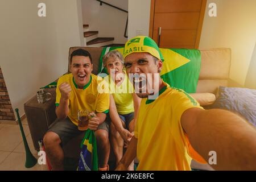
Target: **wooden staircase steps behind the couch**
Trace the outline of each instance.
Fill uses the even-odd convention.
[[[89,31],[89,25],[84,24],[84,42],[88,47],[113,46],[114,38],[98,38],[98,31]],[[118,44],[119,45],[119,44]]]

